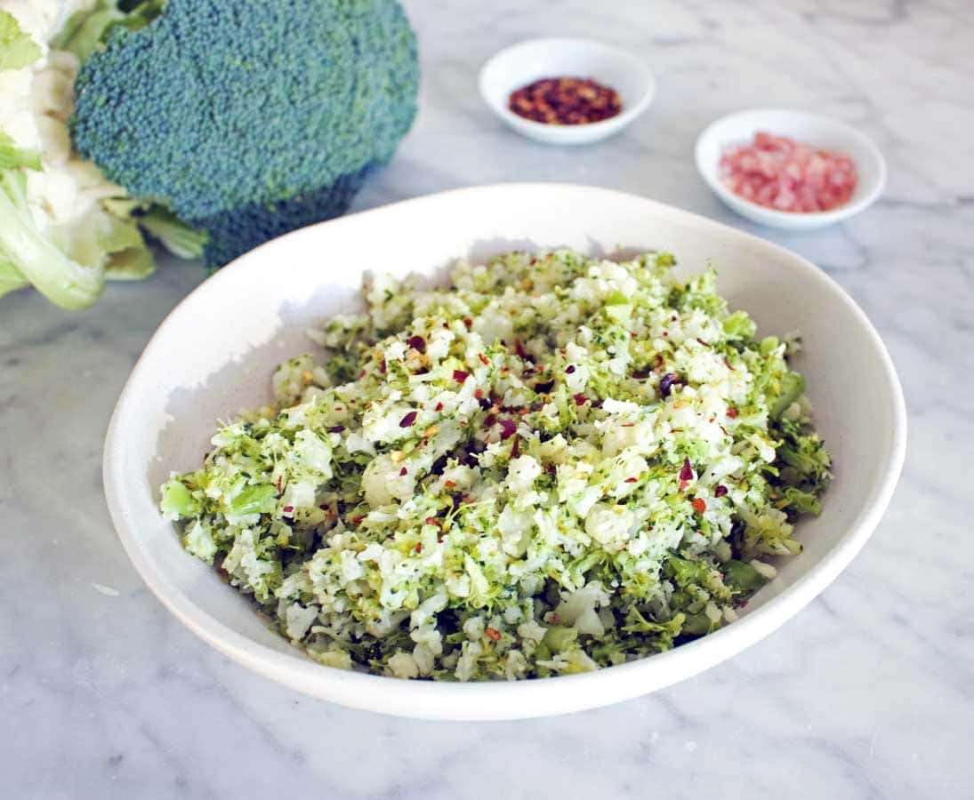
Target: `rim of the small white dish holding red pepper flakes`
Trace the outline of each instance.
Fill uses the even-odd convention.
[[[495,100],[487,86],[488,73],[491,68],[495,67],[498,63],[509,57],[514,51],[542,45],[547,45],[548,47],[594,47],[598,50],[602,50],[604,53],[611,54],[614,57],[618,57],[621,60],[626,61],[628,69],[631,69],[633,72],[638,72],[641,75],[645,89],[636,102],[631,105],[623,106],[622,110],[615,117],[609,117],[606,120],[600,120],[595,123],[555,126],[548,125],[547,123],[540,123],[537,120],[529,120],[526,117],[521,117],[519,114],[515,114],[513,111],[507,108],[504,103],[497,102]],[[587,137],[588,135],[595,135],[596,132],[615,129],[618,127],[625,127],[640,116],[644,111],[646,111],[650,103],[653,102],[653,98],[656,96],[656,76],[654,75],[653,70],[650,69],[649,64],[647,64],[642,58],[629,52],[628,50],[625,50],[624,48],[619,47],[618,45],[604,42],[600,39],[585,39],[579,36],[540,36],[532,39],[523,39],[520,42],[515,42],[512,45],[508,45],[506,48],[499,50],[497,53],[491,55],[486,61],[483,62],[478,73],[477,86],[480,91],[480,97],[483,99],[483,101],[508,125],[515,127],[523,126],[525,129],[537,130],[539,132],[544,131],[547,134],[552,134],[554,131],[559,131],[561,137],[563,138],[575,138],[576,136],[581,137],[582,135]],[[582,131],[584,131],[584,133],[582,133]]]

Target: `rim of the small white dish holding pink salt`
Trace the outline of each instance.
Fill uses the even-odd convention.
[[[753,200],[748,200],[747,198],[742,198],[739,195],[735,195],[720,180],[718,177],[718,164],[712,164],[704,155],[704,150],[708,144],[708,140],[711,138],[716,138],[716,131],[719,127],[726,125],[731,121],[736,121],[739,118],[751,117],[758,114],[781,114],[795,118],[801,117],[808,121],[814,121],[827,125],[828,127],[832,127],[836,130],[841,130],[844,135],[855,139],[861,145],[863,150],[869,154],[870,160],[876,166],[876,179],[873,181],[872,186],[869,187],[868,191],[865,192],[858,200],[846,202],[843,205],[840,205],[837,208],[832,208],[828,211],[780,211],[776,208],[768,208],[767,205],[761,205]],[[731,142],[718,142],[718,150],[727,147],[729,144],[731,144]],[[710,187],[711,191],[715,195],[730,205],[731,208],[746,208],[755,215],[760,215],[762,222],[765,222],[768,225],[792,229],[805,227],[805,224],[808,226],[819,227],[833,222],[839,222],[840,220],[851,217],[853,214],[858,214],[860,211],[863,211],[872,205],[880,197],[883,189],[885,189],[886,186],[886,160],[876,142],[859,130],[859,128],[851,126],[842,120],[825,114],[805,111],[804,109],[798,108],[761,106],[757,108],[746,108],[740,111],[734,111],[731,112],[731,114],[725,114],[723,117],[718,117],[716,120],[707,125],[707,127],[704,127],[699,134],[697,134],[696,142],[693,146],[693,161],[696,164],[696,171],[700,173],[700,177],[703,178],[704,183]]]

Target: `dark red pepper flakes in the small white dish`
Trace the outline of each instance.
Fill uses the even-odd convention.
[[[622,110],[618,91],[590,78],[542,78],[512,91],[507,107],[545,125],[588,125]]]

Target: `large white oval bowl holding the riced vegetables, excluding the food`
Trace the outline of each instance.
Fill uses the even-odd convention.
[[[433,683],[323,667],[272,633],[254,606],[180,547],[159,514],[170,469],[200,464],[218,418],[270,398],[276,364],[313,349],[305,331],[356,304],[368,270],[439,273],[454,259],[511,249],[662,248],[680,273],[712,262],[733,308],[762,333],[799,329],[815,419],[835,456],[822,515],[799,527],[805,553],[738,621],[711,636],[595,673],[518,683]],[[797,613],[880,521],[903,462],[899,382],[869,320],[801,256],[653,200],[592,187],[508,184],[406,200],[297,231],[206,280],[146,346],[105,442],[105,495],[146,583],[187,627],[254,672],[359,709],[450,719],[539,716],[603,706],[699,673]]]

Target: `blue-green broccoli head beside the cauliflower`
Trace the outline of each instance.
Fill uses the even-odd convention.
[[[395,0],[169,0],[82,66],[75,149],[209,235],[221,266],[345,211],[416,114]]]

